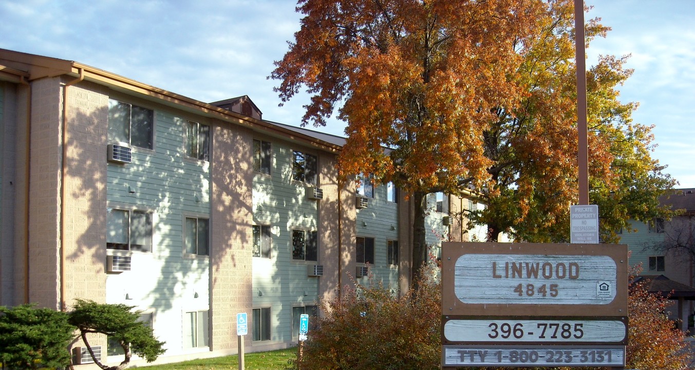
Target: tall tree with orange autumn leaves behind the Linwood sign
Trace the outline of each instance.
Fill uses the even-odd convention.
[[[343,175],[371,174],[411,196],[414,275],[427,257],[428,193],[475,189],[487,207],[470,216],[488,225],[491,240],[500,232],[529,241],[569,233],[559,225],[569,229],[564,220],[577,194],[572,6],[571,0],[300,0],[302,27],[271,74],[281,81],[276,91],[286,101],[306,87],[312,97],[303,124],[324,125],[338,108],[347,122]],[[605,31],[589,22],[587,42]],[[628,122],[633,108],[616,103],[613,89],[629,75],[621,65],[605,59],[589,73],[596,89],[589,102],[603,104],[590,110],[597,123],[590,143],[600,148],[591,152],[591,170],[594,179],[607,180],[607,194],[623,185],[605,175],[616,162],[611,140],[630,136],[640,145],[632,148],[637,161],[649,145],[648,127],[626,134],[630,127],[613,124]],[[610,70],[600,74],[604,80],[602,68]],[[652,177],[664,179],[649,162],[640,175],[657,170]]]

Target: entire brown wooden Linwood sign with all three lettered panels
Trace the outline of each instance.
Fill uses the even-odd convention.
[[[443,243],[442,366],[623,366],[627,246]]]

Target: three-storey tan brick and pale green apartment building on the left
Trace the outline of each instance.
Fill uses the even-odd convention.
[[[0,304],[132,305],[166,341],[161,362],[236,353],[240,312],[245,348],[265,351],[355,280],[408,287],[407,197],[341,182],[343,138],[263,120],[247,96],[208,104],[0,49],[0,143]],[[468,240],[449,215],[473,205],[430,204],[433,254]]]

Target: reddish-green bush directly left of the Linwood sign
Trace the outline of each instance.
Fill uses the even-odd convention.
[[[416,291],[357,284],[320,303],[318,330],[309,332],[295,367],[310,369],[439,369],[440,286],[423,271]]]

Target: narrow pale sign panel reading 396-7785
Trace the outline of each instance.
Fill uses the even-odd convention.
[[[448,341],[572,344],[603,342],[620,344],[627,328],[619,320],[557,319],[452,319],[444,324]]]

